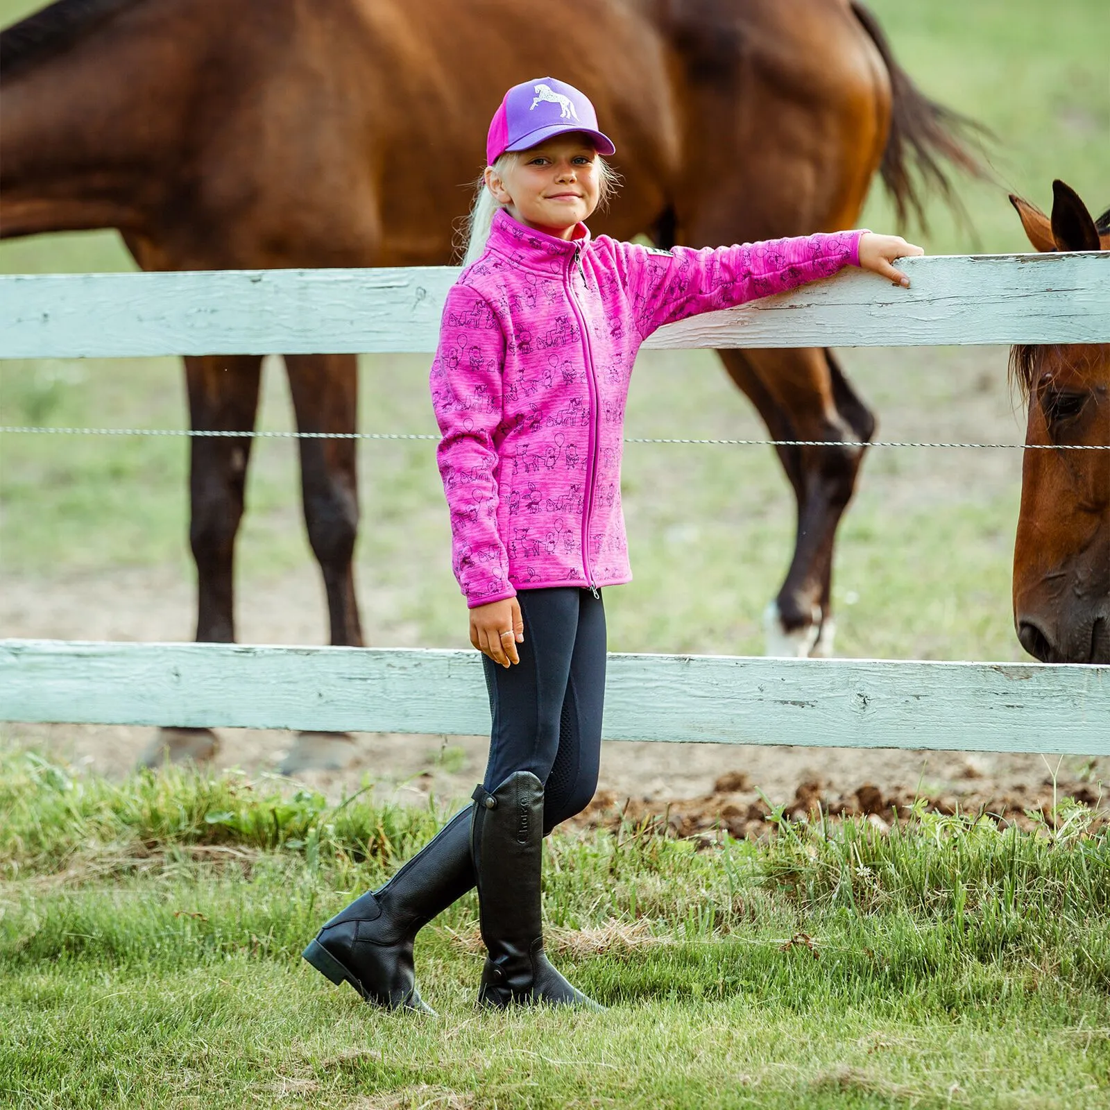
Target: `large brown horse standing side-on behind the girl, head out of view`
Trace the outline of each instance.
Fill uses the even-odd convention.
[[[593,99],[625,185],[597,230],[731,243],[851,226],[877,170],[975,171],[849,0],[59,0],[0,34],[3,235],[118,228],[147,270],[443,264],[508,85]],[[791,654],[827,649],[833,545],[875,421],[829,351],[726,351],[797,496],[774,607]],[[297,425],[350,432],[355,360],[285,360]],[[254,423],[260,359],[188,357],[194,428]],[[858,446],[857,446],[858,444]],[[196,638],[231,640],[250,441],[192,441]],[[354,444],[301,442],[334,644],[360,644]],[[781,648],[779,648],[781,649]],[[202,747],[210,746],[201,737]]]

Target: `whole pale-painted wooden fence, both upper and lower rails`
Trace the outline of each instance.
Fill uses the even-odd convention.
[[[648,344],[1110,342],[1110,252],[907,259]],[[0,357],[432,351],[456,271],[0,276]],[[1002,372],[1001,365],[999,373]],[[0,720],[477,734],[473,652],[0,640]],[[609,739],[1110,754],[1110,667],[613,655]]]

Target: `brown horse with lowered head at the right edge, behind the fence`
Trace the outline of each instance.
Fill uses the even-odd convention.
[[[1110,250],[1062,181],[1052,216],[1010,202],[1038,251]],[[1016,346],[1010,370],[1029,401],[1026,443],[1110,446],[1110,343]],[[1013,623],[1045,663],[1110,663],[1110,451],[1027,451],[1013,546]]]

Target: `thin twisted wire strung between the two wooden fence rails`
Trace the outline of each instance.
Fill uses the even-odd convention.
[[[173,427],[33,427],[0,425],[9,435],[170,435],[195,440],[431,440],[441,436],[420,432],[238,432]],[[708,444],[738,447],[946,447],[979,451],[1110,451],[1110,444],[1088,443],[925,443],[898,440],[686,440],[626,435],[625,443]]]

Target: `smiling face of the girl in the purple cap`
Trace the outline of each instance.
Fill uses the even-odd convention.
[[[597,152],[583,134],[561,134],[521,151],[498,173],[486,167],[486,188],[508,214],[537,231],[569,239],[574,226],[597,208]]]

